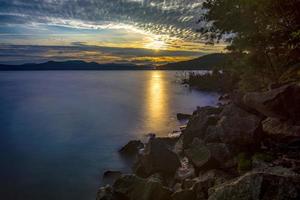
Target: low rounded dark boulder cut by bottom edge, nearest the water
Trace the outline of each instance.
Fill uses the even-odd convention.
[[[172,192],[154,179],[143,179],[135,175],[126,175],[118,179],[114,192],[129,200],[171,200]]]

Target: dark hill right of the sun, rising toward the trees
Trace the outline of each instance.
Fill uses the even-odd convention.
[[[227,54],[215,53],[199,58],[181,61],[176,63],[169,63],[157,67],[162,70],[211,70],[215,67],[219,67],[227,60]]]

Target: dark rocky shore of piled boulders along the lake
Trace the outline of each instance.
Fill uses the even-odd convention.
[[[134,174],[97,200],[300,199],[300,85],[230,95],[189,115],[179,137],[131,141]]]

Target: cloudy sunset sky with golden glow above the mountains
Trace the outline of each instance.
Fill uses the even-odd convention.
[[[203,0],[0,0],[0,63],[160,65],[224,51],[197,29]]]

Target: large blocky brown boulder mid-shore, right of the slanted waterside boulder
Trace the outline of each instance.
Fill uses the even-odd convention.
[[[262,138],[261,119],[230,104],[224,107],[217,124],[220,140],[233,153],[251,151],[259,147]]]

